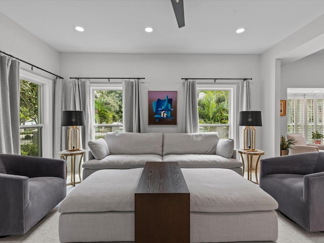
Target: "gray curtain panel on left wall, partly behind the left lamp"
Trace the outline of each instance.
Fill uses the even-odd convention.
[[[54,80],[54,158],[60,158],[59,151],[66,149],[66,129],[62,127],[62,111],[65,110],[64,80]]]

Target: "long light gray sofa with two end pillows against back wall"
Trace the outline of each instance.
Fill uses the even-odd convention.
[[[102,169],[133,169],[147,161],[178,161],[181,168],[224,168],[242,174],[234,141],[218,133],[107,133],[90,141],[83,179]]]

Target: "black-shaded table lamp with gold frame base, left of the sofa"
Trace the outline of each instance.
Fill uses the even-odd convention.
[[[69,151],[80,150],[80,129],[85,126],[85,112],[82,110],[63,110],[62,126],[69,126],[67,130],[67,148]]]

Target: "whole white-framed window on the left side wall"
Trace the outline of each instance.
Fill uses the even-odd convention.
[[[53,154],[53,79],[23,68],[20,69],[20,79],[23,80],[20,86],[21,154],[52,158],[55,156]]]

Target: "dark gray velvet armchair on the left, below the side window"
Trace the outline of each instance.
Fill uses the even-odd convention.
[[[66,195],[62,159],[0,154],[0,236],[24,234]]]

